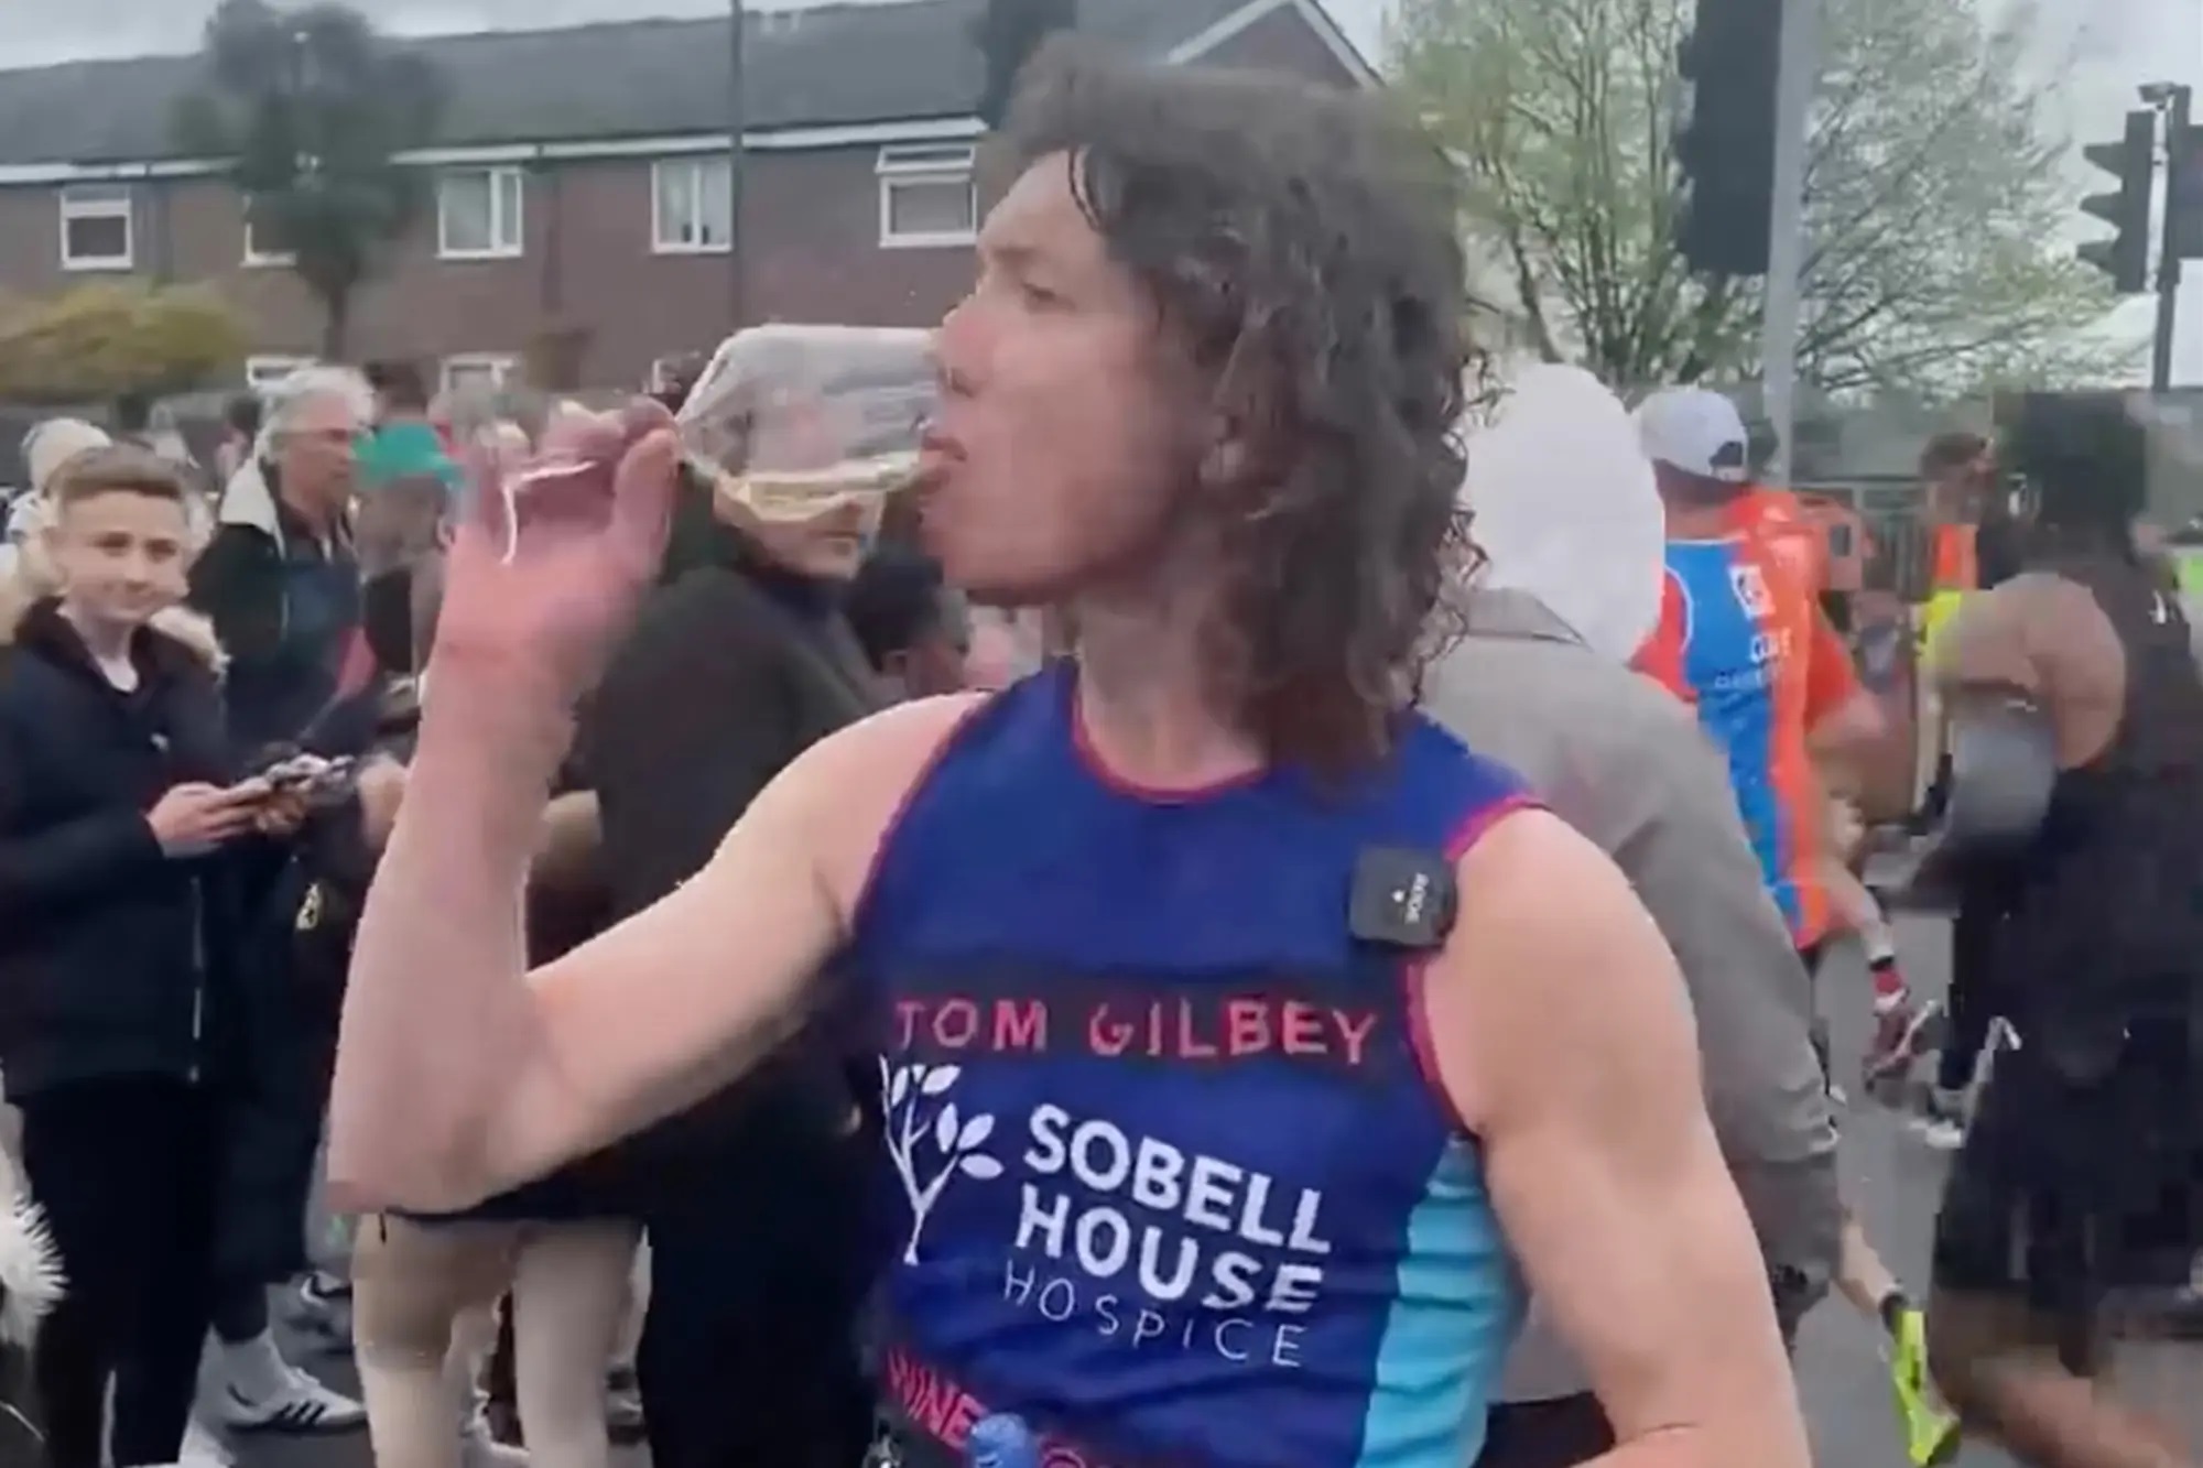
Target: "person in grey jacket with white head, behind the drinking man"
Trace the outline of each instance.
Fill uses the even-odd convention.
[[[1467,637],[1430,670],[1423,708],[1520,769],[1659,924],[1696,1010],[1707,1111],[1793,1327],[1837,1256],[1835,1126],[1804,968],[1760,886],[1727,769],[1690,712],[1628,670],[1661,600],[1652,467],[1606,388],[1533,368],[1469,439],[1465,498],[1489,560],[1467,593]],[[1533,1303],[1480,1468],[1562,1468],[1610,1446],[1588,1375]]]

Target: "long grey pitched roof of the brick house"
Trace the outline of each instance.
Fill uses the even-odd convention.
[[[1172,46],[1247,0],[1084,0],[1079,29],[1137,55]],[[751,13],[742,75],[751,128],[969,117],[985,0],[824,4]],[[560,31],[403,40],[447,84],[438,145],[714,132],[725,126],[729,20],[630,20]],[[178,156],[172,119],[196,55],[0,71],[0,165]]]

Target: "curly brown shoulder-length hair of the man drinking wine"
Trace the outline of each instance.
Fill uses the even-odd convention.
[[[1242,450],[1190,507],[1218,547],[1218,694],[1282,760],[1383,758],[1469,555],[1452,168],[1377,97],[1068,37],[1027,66],[1002,143],[1018,168],[1073,159]]]

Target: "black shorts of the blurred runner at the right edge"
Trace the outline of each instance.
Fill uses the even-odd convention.
[[[2192,1065],[2159,1056],[2088,1082],[2029,1045],[1998,1058],[1943,1188],[1939,1289],[2086,1314],[2108,1292],[2188,1281],[2203,1250],[2199,1091]]]

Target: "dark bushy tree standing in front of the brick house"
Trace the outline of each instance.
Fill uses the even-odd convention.
[[[293,258],[322,304],[322,355],[341,361],[355,293],[421,216],[425,181],[397,154],[434,137],[441,77],[344,4],[223,0],[203,57],[178,139],[231,161],[253,245]]]

